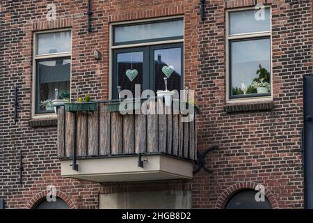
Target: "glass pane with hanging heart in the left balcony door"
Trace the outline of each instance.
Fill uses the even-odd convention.
[[[120,89],[128,89],[135,95],[135,84],[143,84],[143,52],[119,53],[117,72]]]

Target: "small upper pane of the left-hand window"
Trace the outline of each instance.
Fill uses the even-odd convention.
[[[71,51],[71,31],[37,34],[37,55]]]

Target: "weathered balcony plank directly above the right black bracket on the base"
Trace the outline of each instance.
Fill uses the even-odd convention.
[[[146,116],[145,114],[135,115],[135,153],[145,153],[146,151]]]

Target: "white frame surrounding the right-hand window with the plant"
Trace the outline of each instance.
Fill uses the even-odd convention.
[[[226,11],[225,15],[225,25],[226,25],[226,35],[225,35],[225,68],[226,68],[226,103],[236,103],[236,102],[258,102],[264,100],[273,100],[273,50],[272,50],[272,10],[271,6],[265,6],[265,8],[269,8],[270,10],[270,29],[269,31],[259,31],[253,33],[240,33],[240,34],[232,34],[230,35],[230,13],[237,11],[245,11],[245,10],[255,10],[255,7],[247,7],[247,8],[234,8]],[[230,98],[230,40],[240,40],[244,38],[262,38],[269,37],[270,38],[270,52],[271,52],[271,95],[264,97],[251,97],[251,98]]]

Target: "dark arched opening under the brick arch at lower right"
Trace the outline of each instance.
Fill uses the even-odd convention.
[[[257,201],[255,190],[241,190],[236,192],[225,205],[225,209],[271,209],[271,203],[266,197],[264,201]]]

